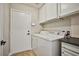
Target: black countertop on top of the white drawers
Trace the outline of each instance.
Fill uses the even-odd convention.
[[[71,37],[69,39],[61,38],[60,41],[79,46],[79,38],[75,38],[75,37]]]

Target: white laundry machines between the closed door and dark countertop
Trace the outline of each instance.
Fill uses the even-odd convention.
[[[63,36],[49,34],[34,34],[32,36],[32,48],[36,55],[39,56],[59,56],[60,43],[58,39]]]

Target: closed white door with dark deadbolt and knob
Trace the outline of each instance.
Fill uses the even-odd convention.
[[[11,10],[10,53],[31,49],[31,14]]]

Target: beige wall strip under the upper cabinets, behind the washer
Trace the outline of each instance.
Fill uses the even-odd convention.
[[[44,30],[55,30],[55,29],[62,29],[62,30],[66,30],[67,28],[69,30],[71,27],[71,19],[69,17],[63,18],[61,20],[58,19],[58,21],[55,22],[51,22],[48,24],[44,24],[43,25]]]

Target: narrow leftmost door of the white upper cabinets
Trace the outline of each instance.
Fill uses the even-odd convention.
[[[40,20],[40,22],[43,22],[46,20],[46,5],[43,5],[39,9],[39,20]]]

